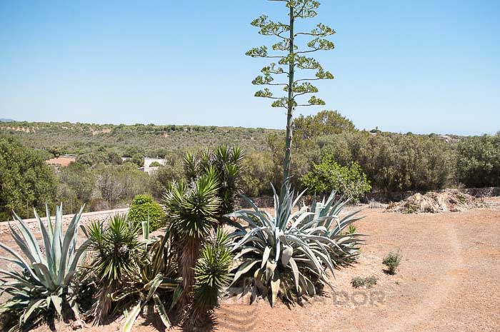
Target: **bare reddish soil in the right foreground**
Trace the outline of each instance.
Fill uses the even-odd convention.
[[[366,208],[363,213],[366,218],[356,226],[369,235],[366,246],[358,263],[331,278],[334,291],[291,308],[224,300],[213,330],[500,331],[500,211],[405,215]],[[397,250],[401,265],[388,276],[381,261]],[[373,288],[352,288],[351,278],[371,275],[378,278]],[[83,331],[119,331],[121,324],[118,318]],[[158,330],[139,320],[133,331]]]

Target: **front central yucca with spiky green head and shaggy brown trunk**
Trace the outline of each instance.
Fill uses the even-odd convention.
[[[184,295],[181,303],[191,297],[194,283],[194,266],[199,257],[201,243],[216,226],[220,198],[219,183],[214,173],[207,173],[191,183],[171,183],[164,197],[167,229],[171,233],[181,269]]]

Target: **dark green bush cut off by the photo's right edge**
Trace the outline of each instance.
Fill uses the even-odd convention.
[[[500,135],[463,139],[457,150],[460,183],[469,187],[500,186]]]

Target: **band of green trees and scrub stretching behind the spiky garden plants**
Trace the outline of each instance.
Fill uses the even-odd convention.
[[[22,125],[42,131],[42,124]],[[105,127],[43,124],[45,127],[42,137],[49,133],[57,134],[54,128],[63,125],[73,125],[79,131],[103,130]],[[171,126],[112,128],[117,132],[133,134],[136,139],[134,145],[120,144],[119,141],[116,141],[115,146],[99,145],[91,141],[91,138],[85,143],[80,136],[64,131],[63,134],[56,135],[62,138],[61,141],[72,141],[73,144],[84,147],[81,150],[59,151],[58,141],[51,141],[51,144],[43,138],[37,141],[40,138],[38,134],[26,145],[24,143],[29,133],[19,134],[16,131],[16,134],[12,134],[9,129],[10,134],[0,136],[0,218],[9,218],[13,209],[23,217],[32,217],[31,208],[26,206],[43,208],[46,202],[52,206],[63,202],[64,212],[70,213],[83,203],[86,203],[87,211],[124,206],[140,193],[149,193],[159,201],[170,181],[181,181],[184,178],[184,152],[191,149],[204,151],[207,146],[224,141],[218,135],[225,135],[221,134],[224,130],[220,128],[190,127],[193,137],[197,137],[198,132],[211,134],[199,145],[174,149],[162,144],[149,145],[149,135],[159,130],[167,133],[182,130],[187,139],[192,133],[184,128]],[[269,183],[273,183],[276,188],[281,185],[284,131],[228,131],[229,135],[244,132],[260,136],[256,139],[259,146],[244,145],[243,148],[243,191],[247,196],[269,195]],[[386,192],[429,191],[461,184],[468,187],[500,186],[499,134],[461,137],[458,143],[449,144],[434,134],[358,131],[349,119],[334,111],[323,111],[315,116],[299,116],[294,122],[294,132],[294,161],[291,165],[294,176],[291,182],[298,189],[314,186],[317,193],[320,189],[329,191],[333,188],[350,188],[349,190],[362,196],[362,191],[369,186],[372,191]],[[94,136],[99,135],[106,134]],[[37,146],[37,149],[30,146]],[[61,152],[78,154],[78,151],[86,152],[79,154],[76,162],[67,167],[55,169],[44,163],[44,159]],[[157,151],[164,151],[158,155],[166,159],[166,165],[159,166],[158,171],[151,176],[139,171],[137,168],[142,166],[144,156],[153,156],[151,153]],[[329,174],[329,177],[325,177],[325,174]],[[351,182],[339,183],[333,178],[336,176],[351,179]]]

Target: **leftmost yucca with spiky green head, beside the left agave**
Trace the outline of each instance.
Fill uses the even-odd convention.
[[[101,323],[111,313],[111,294],[124,286],[126,277],[135,271],[144,247],[139,241],[141,226],[129,222],[126,215],[112,216],[106,225],[94,221],[86,228],[92,261],[89,271],[96,277],[99,290],[91,316]]]

